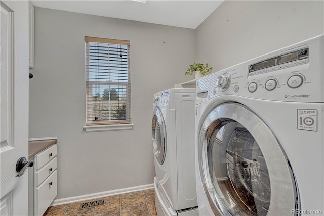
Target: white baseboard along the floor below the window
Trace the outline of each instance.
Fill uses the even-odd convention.
[[[110,191],[104,191],[104,192],[99,192],[99,193],[92,193],[92,194],[86,194],[86,195],[81,195],[81,196],[68,197],[68,198],[63,198],[63,199],[55,199],[52,202],[51,206],[69,204],[72,202],[80,202],[80,201],[85,201],[85,200],[89,200],[89,199],[98,199],[98,198],[102,198],[102,197],[106,197],[106,196],[131,193],[131,192],[136,192],[136,191],[141,191],[141,190],[148,190],[148,189],[152,189],[152,188],[154,188],[154,184],[140,185],[140,186],[135,186],[135,187],[130,187],[130,188],[110,190]]]

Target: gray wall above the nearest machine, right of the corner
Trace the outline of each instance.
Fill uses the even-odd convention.
[[[224,1],[199,27],[213,72],[324,33],[324,1]]]

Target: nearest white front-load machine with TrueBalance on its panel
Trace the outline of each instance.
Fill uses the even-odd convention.
[[[199,215],[324,213],[324,35],[200,78]]]

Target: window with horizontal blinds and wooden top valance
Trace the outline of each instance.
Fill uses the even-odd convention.
[[[130,41],[85,37],[87,125],[131,123]]]

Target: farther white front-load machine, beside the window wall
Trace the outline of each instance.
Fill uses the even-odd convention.
[[[152,138],[158,216],[198,214],[194,109],[195,89],[169,89],[154,94]]]

